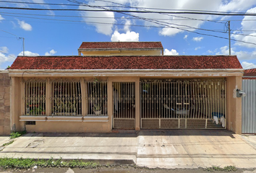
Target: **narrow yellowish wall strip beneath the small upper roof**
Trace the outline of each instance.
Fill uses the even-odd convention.
[[[83,56],[161,56],[161,50],[82,51],[81,53]]]

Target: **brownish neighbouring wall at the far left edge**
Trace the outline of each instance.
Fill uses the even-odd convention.
[[[8,71],[0,71],[0,136],[7,136],[11,132],[10,84]]]

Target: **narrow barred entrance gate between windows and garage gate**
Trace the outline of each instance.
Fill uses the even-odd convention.
[[[113,128],[135,128],[135,82],[113,83]]]

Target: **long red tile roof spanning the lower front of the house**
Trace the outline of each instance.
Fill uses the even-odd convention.
[[[9,69],[242,68],[236,56],[18,56]]]

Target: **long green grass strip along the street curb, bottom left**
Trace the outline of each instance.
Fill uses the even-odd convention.
[[[72,160],[62,161],[61,159],[13,159],[13,158],[0,158],[0,168],[3,169],[28,169],[38,167],[70,167],[70,168],[96,168],[100,164],[88,161]]]

